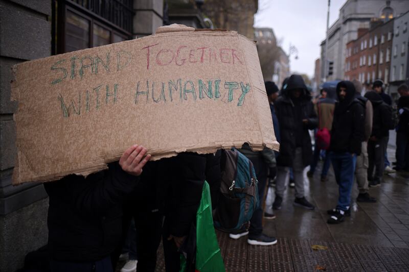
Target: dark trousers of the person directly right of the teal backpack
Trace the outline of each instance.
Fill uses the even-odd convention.
[[[248,237],[257,238],[263,232],[263,202],[264,202],[264,191],[267,185],[267,164],[264,162],[261,156],[257,158],[249,158],[253,162],[254,170],[256,171],[256,177],[259,181],[258,191],[259,191],[259,207],[254,211],[252,219],[250,220],[250,228]]]

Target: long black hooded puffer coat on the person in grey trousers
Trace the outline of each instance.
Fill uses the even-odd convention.
[[[300,110],[301,120],[296,119],[294,113],[293,98],[291,98],[291,90],[301,89]],[[278,98],[274,104],[280,124],[280,152],[277,158],[278,166],[292,167],[292,162],[296,153],[296,132],[302,133],[302,150],[303,163],[307,166],[312,160],[311,137],[308,130],[317,127],[318,119],[314,111],[314,105],[311,102],[311,96],[307,91],[304,80],[299,75],[292,75],[288,82],[287,88],[283,90],[283,95]],[[304,124],[302,119],[308,119],[308,123]],[[300,126],[300,127],[297,127]]]

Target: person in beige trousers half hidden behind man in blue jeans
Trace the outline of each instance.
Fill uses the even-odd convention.
[[[356,166],[355,166],[355,179],[356,184],[358,185],[359,194],[356,198],[357,202],[369,202],[375,203],[375,197],[371,197],[368,193],[368,140],[371,137],[372,132],[372,119],[373,119],[373,108],[372,103],[365,97],[362,97],[361,90],[362,84],[353,80],[352,83],[355,86],[355,98],[361,103],[363,108],[365,108],[365,131],[363,133],[363,141],[361,145],[361,154],[356,157]]]

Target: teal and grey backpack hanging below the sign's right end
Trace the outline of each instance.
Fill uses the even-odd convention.
[[[235,232],[248,225],[259,206],[256,172],[253,163],[236,149],[223,150],[220,168],[214,226],[224,232]]]

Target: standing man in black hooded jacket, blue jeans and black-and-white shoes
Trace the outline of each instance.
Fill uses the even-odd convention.
[[[328,224],[344,221],[351,212],[351,190],[354,181],[356,157],[361,153],[364,131],[364,109],[354,99],[355,87],[350,81],[341,81],[336,86],[338,101],[335,104],[331,130],[330,156],[335,180],[339,186],[338,203],[328,210]]]

